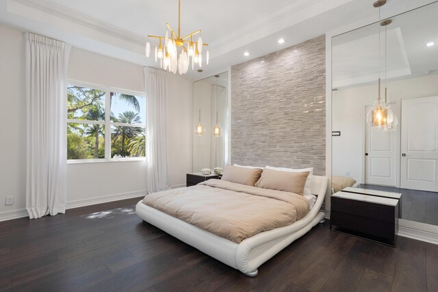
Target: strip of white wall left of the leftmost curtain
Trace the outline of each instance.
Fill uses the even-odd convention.
[[[26,106],[25,40],[20,31],[0,25],[0,217],[25,207]],[[14,204],[5,206],[5,197]]]

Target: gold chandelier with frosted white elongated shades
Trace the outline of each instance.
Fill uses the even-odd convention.
[[[174,74],[179,72],[179,75],[185,74],[189,66],[194,70],[195,66],[201,68],[203,66],[203,46],[207,47],[205,53],[205,63],[209,63],[208,44],[203,43],[201,38],[201,29],[192,32],[181,38],[181,0],[178,1],[178,34],[166,23],[166,36],[148,36],[148,38],[156,39],[155,43],[155,62],[159,62],[159,66],[164,70],[169,70]],[[196,35],[198,39],[195,40]],[[151,55],[151,43],[146,42],[145,47],[146,57]]]

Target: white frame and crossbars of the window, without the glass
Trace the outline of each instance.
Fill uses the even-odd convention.
[[[112,88],[110,86],[103,86],[94,83],[88,83],[83,81],[77,81],[73,79],[68,79],[67,86],[74,85],[83,88],[91,88],[95,90],[102,90],[105,92],[105,120],[97,121],[97,120],[76,120],[76,119],[67,119],[68,123],[75,124],[101,124],[105,126],[105,158],[98,159],[67,159],[67,164],[79,164],[79,163],[106,163],[106,162],[123,162],[123,161],[146,161],[146,157],[123,157],[123,158],[112,158],[111,157],[111,137],[112,137],[112,126],[122,126],[122,127],[138,127],[144,128],[146,130],[146,123],[144,124],[125,124],[122,122],[112,122],[111,121],[111,105],[110,105],[110,94],[111,92],[120,93],[120,94],[130,94],[134,96],[142,96],[144,97],[144,116],[147,118],[147,102],[146,95],[144,92],[137,92],[134,90],[125,90],[121,88]],[[66,88],[67,90],[67,88]],[[146,121],[145,121],[146,122]],[[67,127],[66,124],[66,127]],[[109,134],[109,135],[108,135]]]

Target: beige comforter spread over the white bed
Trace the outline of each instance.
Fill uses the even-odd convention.
[[[147,195],[143,203],[235,243],[309,212],[303,196],[218,179]]]

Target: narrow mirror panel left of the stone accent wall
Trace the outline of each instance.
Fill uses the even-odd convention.
[[[193,83],[193,172],[224,168],[229,160],[228,72]]]

